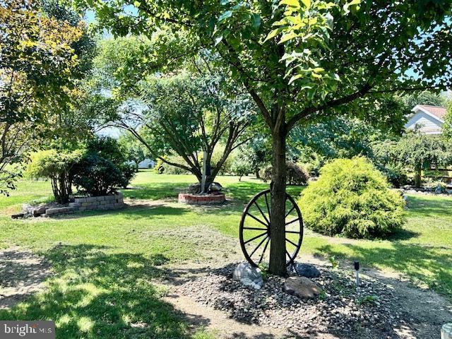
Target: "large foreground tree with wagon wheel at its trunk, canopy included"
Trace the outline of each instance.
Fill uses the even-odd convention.
[[[97,8],[114,34],[189,32],[251,95],[272,136],[269,270],[278,275],[286,274],[286,138],[294,126],[348,114],[343,105],[366,95],[451,84],[451,0],[78,2]],[[136,10],[124,13],[124,5]]]

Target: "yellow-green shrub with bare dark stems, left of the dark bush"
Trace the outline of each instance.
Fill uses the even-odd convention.
[[[72,169],[82,154],[81,150],[42,150],[32,155],[27,174],[35,179],[50,179],[55,200],[67,203],[72,193]]]

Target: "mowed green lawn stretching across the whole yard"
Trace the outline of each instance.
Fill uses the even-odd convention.
[[[128,198],[175,199],[194,182],[189,175],[140,172]],[[179,235],[190,227],[214,230],[238,242],[244,203],[268,184],[253,177],[218,177],[230,202],[220,208],[191,208],[169,203],[153,208],[86,212],[46,220],[11,220],[20,203],[47,201],[49,182],[23,181],[9,197],[0,197],[0,248],[23,246],[52,264],[47,290],[0,319],[52,319],[57,338],[210,338],[189,326],[162,301],[166,288],[155,280],[170,264],[207,260],[199,238]],[[291,187],[297,196],[302,188]],[[303,210],[303,206],[300,206]],[[408,223],[390,240],[357,241],[323,237],[305,230],[304,254],[336,256],[343,265],[393,270],[452,300],[452,198],[409,196]],[[174,232],[174,237],[172,236]],[[218,249],[218,257],[224,256]],[[227,258],[225,258],[227,261]],[[1,282],[1,277],[0,277]],[[160,286],[160,287],[157,287]],[[1,292],[1,291],[0,291]],[[143,325],[144,324],[144,325]]]

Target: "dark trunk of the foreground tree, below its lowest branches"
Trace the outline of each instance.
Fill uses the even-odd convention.
[[[285,266],[285,133],[273,131],[272,195],[270,214],[270,273],[287,275]]]

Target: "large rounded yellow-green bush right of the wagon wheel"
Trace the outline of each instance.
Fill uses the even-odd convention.
[[[364,157],[323,166],[299,198],[304,225],[351,238],[384,237],[405,222],[405,201]]]

